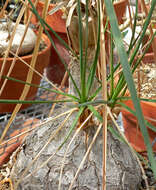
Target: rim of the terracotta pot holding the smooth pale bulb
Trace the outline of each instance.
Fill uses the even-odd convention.
[[[48,36],[46,36],[45,34],[42,34],[42,38],[44,39],[44,42],[46,43],[46,47],[43,50],[39,51],[38,55],[44,54],[48,49],[51,48],[51,42],[50,42]],[[19,56],[19,57],[21,59],[25,60],[25,59],[30,59],[32,57],[32,55],[33,54],[31,53],[29,55],[24,55],[24,56]],[[13,61],[13,59],[14,59],[14,57],[7,57],[6,58],[7,61]],[[16,59],[18,59],[18,57]],[[4,58],[0,58],[0,61],[3,61],[3,60],[4,60]]]

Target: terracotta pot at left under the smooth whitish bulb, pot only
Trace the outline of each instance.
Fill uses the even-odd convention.
[[[43,49],[42,51],[38,53],[36,66],[35,66],[35,69],[41,74],[43,74],[44,68],[49,64],[50,48],[51,48],[50,40],[45,34],[43,34],[43,39],[47,46],[45,47],[45,49]],[[21,59],[23,59],[25,62],[30,64],[32,55],[22,56]],[[7,72],[10,68],[12,61],[13,61],[13,58],[7,58],[5,69],[3,72],[4,76],[7,75]],[[3,58],[0,58],[0,69],[2,67],[2,63],[3,63]],[[13,77],[22,81],[26,81],[28,70],[29,70],[28,66],[26,66],[21,60],[17,58],[10,77]],[[34,73],[32,84],[39,85],[40,80],[41,80],[41,77],[38,76],[36,73]],[[2,78],[0,80],[0,88],[3,82],[4,82],[4,79]],[[0,99],[19,99],[23,91],[23,88],[24,88],[24,84],[8,80],[0,96]],[[36,96],[36,93],[37,93],[37,88],[30,87],[26,100],[33,100]],[[0,104],[0,113],[12,112],[15,106],[16,104]],[[21,109],[24,109],[28,106],[29,104],[23,104]]]

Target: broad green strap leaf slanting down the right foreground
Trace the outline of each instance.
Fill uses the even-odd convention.
[[[155,4],[156,4],[156,1],[152,0],[151,6],[155,6]],[[105,0],[105,6],[106,6],[107,15],[109,16],[112,34],[114,37],[114,42],[115,42],[115,45],[116,45],[116,48],[118,51],[118,55],[120,57],[120,62],[121,62],[122,68],[123,68],[124,77],[127,82],[129,91],[131,93],[131,97],[132,97],[133,104],[134,104],[134,107],[136,110],[138,122],[140,124],[140,129],[141,129],[142,135],[144,137],[144,142],[147,147],[148,157],[151,162],[154,176],[156,178],[156,161],[155,161],[155,158],[153,155],[152,146],[151,146],[150,139],[149,139],[149,134],[148,134],[148,131],[146,128],[145,120],[144,120],[143,113],[142,113],[141,106],[140,106],[140,101],[137,97],[135,84],[134,84],[132,73],[131,73],[131,68],[128,63],[127,53],[126,53],[125,47],[122,43],[121,32],[118,27],[118,22],[117,22],[117,18],[115,15],[114,7],[110,0]]]

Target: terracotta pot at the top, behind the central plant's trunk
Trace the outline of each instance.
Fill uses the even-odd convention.
[[[127,0],[121,0],[120,2],[114,3],[115,12],[117,14],[118,22],[119,24],[123,23],[123,16],[126,12],[126,6],[128,1]],[[42,10],[44,7],[44,2],[39,1],[37,4],[37,11],[39,15],[42,15]],[[55,4],[50,4],[48,11],[52,10],[55,7]],[[68,42],[67,34],[66,34],[66,21],[62,18],[63,12],[62,10],[58,10],[52,15],[48,15],[46,17],[46,22],[52,27],[52,29],[58,33],[58,35],[65,41]],[[38,20],[36,16],[33,15],[32,24],[37,25]],[[68,64],[70,61],[69,53],[66,50],[66,48],[60,43],[60,41],[53,35],[52,32],[50,32],[52,39],[54,40],[54,43],[56,45],[56,48],[60,54],[60,56],[64,59],[64,61]],[[53,83],[60,84],[63,76],[65,74],[65,67],[60,61],[60,58],[58,57],[56,51],[54,48],[51,48],[51,58],[50,63],[46,69],[46,75],[50,81]],[[68,86],[68,81],[65,84]]]

